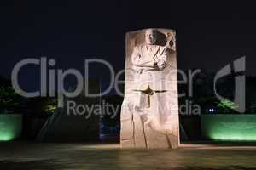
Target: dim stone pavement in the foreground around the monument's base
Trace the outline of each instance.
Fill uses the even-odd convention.
[[[0,169],[256,169],[255,146],[183,144],[177,150],[120,150],[119,144],[0,143]]]

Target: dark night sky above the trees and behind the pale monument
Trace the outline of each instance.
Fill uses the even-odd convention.
[[[177,31],[177,66],[218,71],[243,55],[247,75],[256,76],[256,12],[253,4],[180,1],[7,1],[0,7],[0,75],[15,63],[48,56],[57,68],[83,71],[84,59],[108,60],[124,68],[125,32],[147,27]],[[96,70],[93,75],[106,75]],[[37,71],[21,73],[38,82]]]

